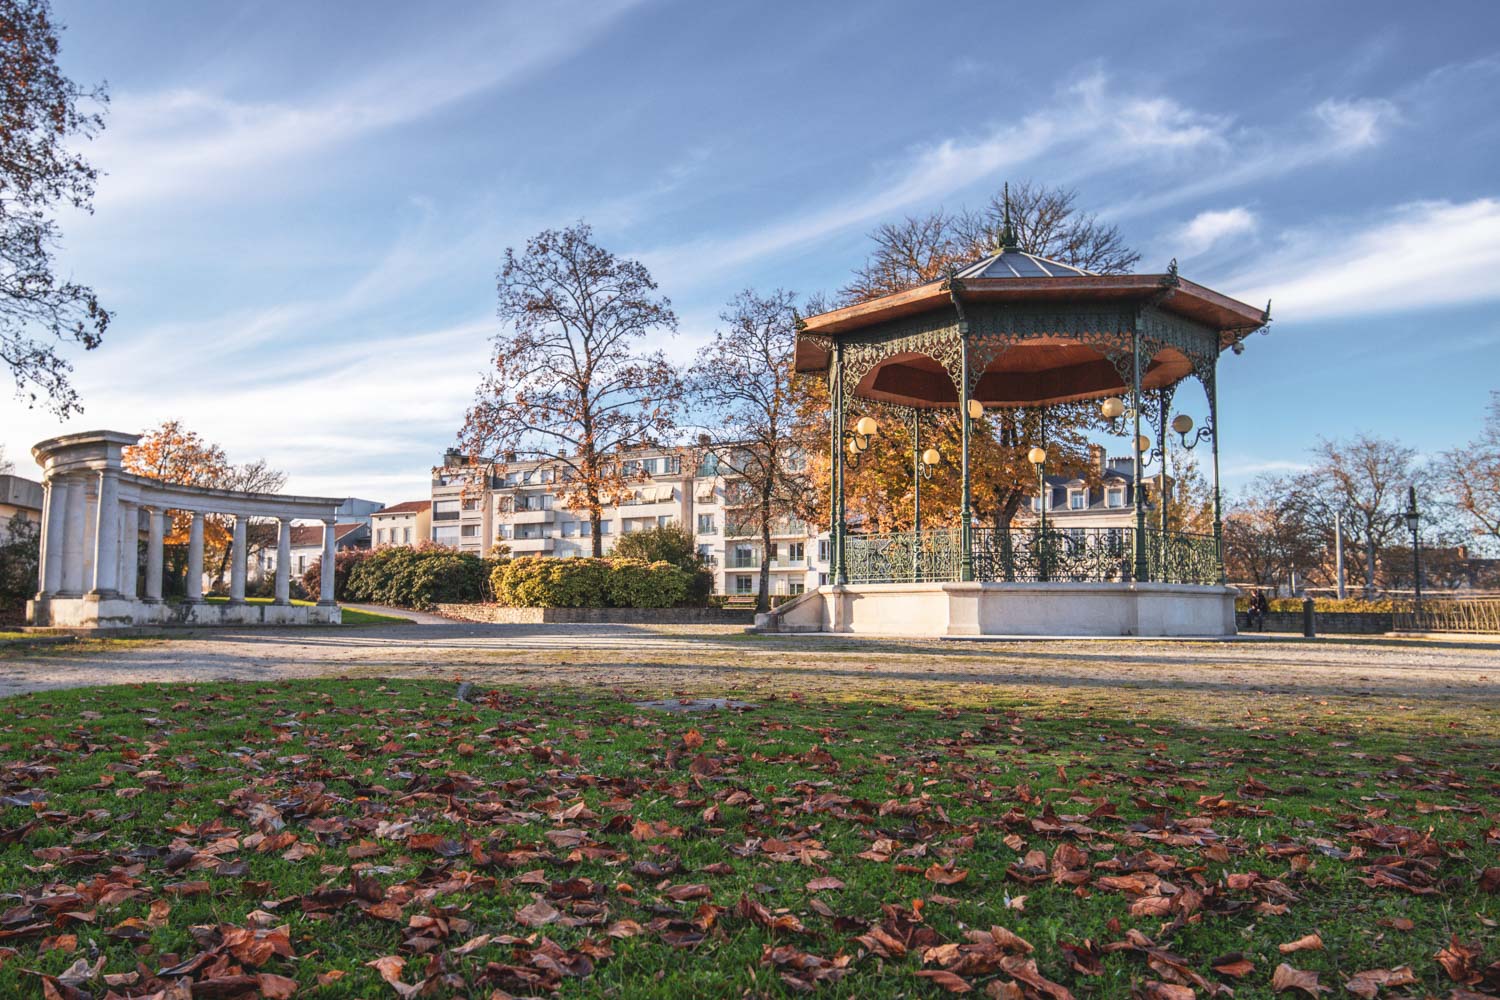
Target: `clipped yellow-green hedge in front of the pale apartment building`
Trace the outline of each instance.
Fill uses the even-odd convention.
[[[498,565],[490,585],[512,607],[678,607],[699,589],[694,573],[670,562],[549,556]]]

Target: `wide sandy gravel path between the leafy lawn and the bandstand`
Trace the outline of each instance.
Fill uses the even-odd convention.
[[[1257,714],[1320,700],[1500,721],[1500,645],[1419,640],[954,643],[747,636],[734,625],[369,625],[214,630],[110,648],[0,652],[0,696],[153,681],[309,676],[456,678],[668,696],[858,690],[914,699],[1026,699]],[[1208,711],[1208,709],[1202,709]],[[1476,715],[1478,714],[1478,715]]]

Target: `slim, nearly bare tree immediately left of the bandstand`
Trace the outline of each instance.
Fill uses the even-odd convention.
[[[760,535],[756,607],[766,610],[771,532],[780,520],[802,514],[808,496],[802,453],[790,447],[798,421],[792,373],[796,297],[783,289],[766,295],[746,289],[718,318],[724,325],[698,352],[693,396],[708,421],[702,445],[742,502],[738,523]]]

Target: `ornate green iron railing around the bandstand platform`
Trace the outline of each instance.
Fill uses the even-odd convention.
[[[974,528],[974,579],[999,583],[1126,583],[1134,579],[1134,528]],[[849,583],[951,582],[960,579],[956,528],[849,535]],[[1212,535],[1148,529],[1146,567],[1162,583],[1216,583]]]

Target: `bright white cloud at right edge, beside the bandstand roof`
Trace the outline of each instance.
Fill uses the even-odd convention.
[[[1356,316],[1500,298],[1500,201],[1418,201],[1354,229],[1287,232],[1218,286],[1275,300],[1284,319]]]

